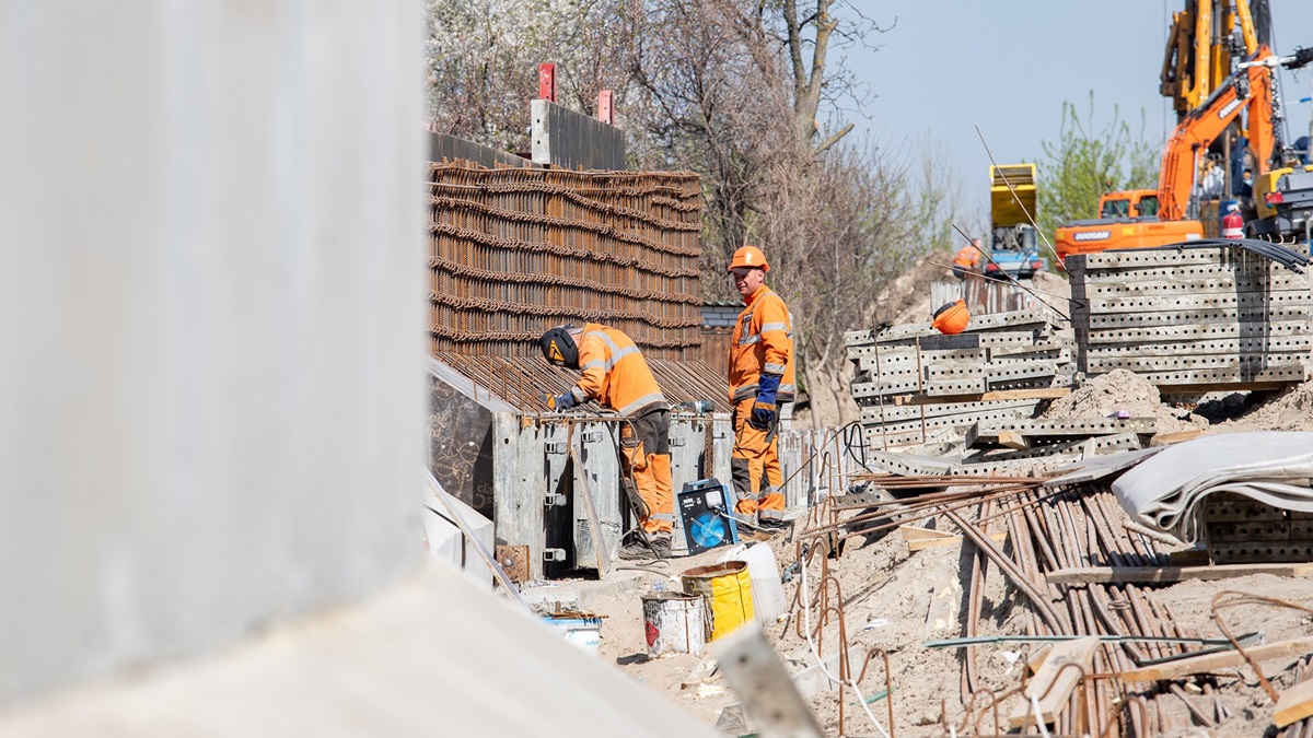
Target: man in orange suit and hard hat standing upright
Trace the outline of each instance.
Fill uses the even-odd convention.
[[[739,520],[783,528],[784,481],[780,478],[780,404],[797,394],[789,309],[765,286],[771,265],[755,246],[734,252],[729,272],[743,298],[743,313],[730,339],[729,385],[734,406],[730,475]]]

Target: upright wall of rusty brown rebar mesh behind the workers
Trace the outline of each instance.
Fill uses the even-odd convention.
[[[696,175],[431,164],[435,356],[536,356],[555,323],[605,323],[654,360],[701,344]]]

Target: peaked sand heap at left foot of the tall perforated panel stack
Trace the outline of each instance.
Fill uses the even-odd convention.
[[[1208,427],[1205,418],[1194,415],[1188,410],[1162,404],[1158,387],[1125,369],[1113,369],[1086,381],[1081,389],[1053,401],[1043,416],[1108,418],[1120,411],[1129,412],[1132,418],[1155,418],[1159,433]]]

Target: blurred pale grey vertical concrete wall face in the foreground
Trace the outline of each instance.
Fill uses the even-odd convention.
[[[420,11],[0,7],[0,700],[418,563]]]

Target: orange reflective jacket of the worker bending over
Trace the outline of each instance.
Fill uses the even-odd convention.
[[[621,415],[638,416],[667,408],[651,369],[624,332],[587,323],[579,339],[583,377],[571,389],[579,402],[592,398]]]

